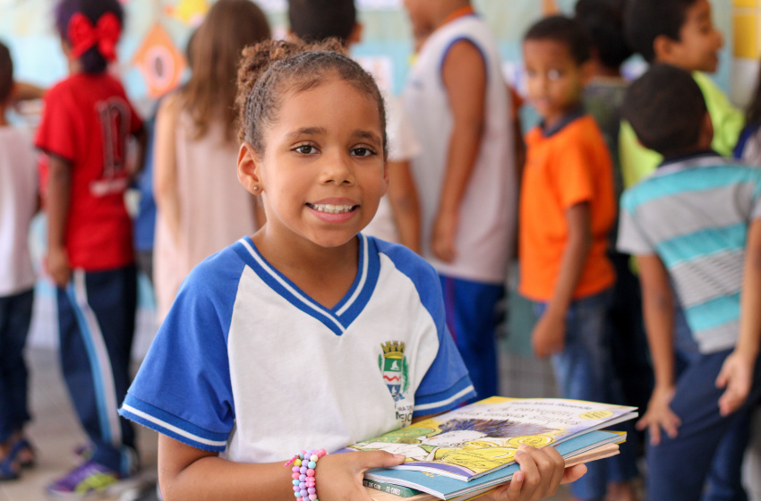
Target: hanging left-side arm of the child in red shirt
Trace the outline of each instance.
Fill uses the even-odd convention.
[[[64,159],[47,156],[47,273],[59,287],[65,287],[72,276],[66,254],[66,221],[72,200],[72,167]]]

